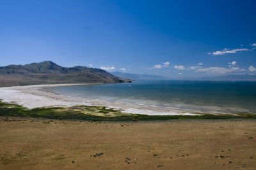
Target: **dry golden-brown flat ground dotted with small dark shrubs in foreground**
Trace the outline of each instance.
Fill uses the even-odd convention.
[[[256,169],[256,121],[0,117],[0,169]]]

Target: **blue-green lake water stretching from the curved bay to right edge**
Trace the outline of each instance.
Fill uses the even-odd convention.
[[[134,81],[123,84],[61,86],[49,89],[70,97],[108,102],[193,109],[218,107],[223,112],[256,113],[256,82]],[[205,110],[207,111],[207,110]]]

